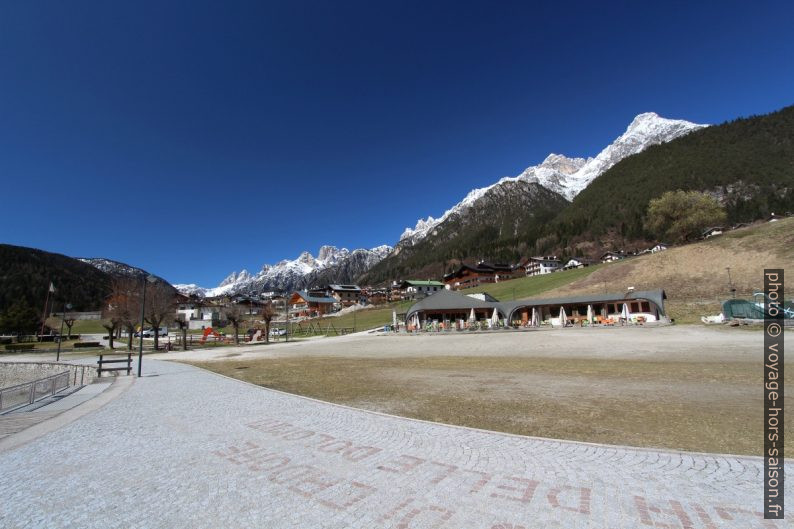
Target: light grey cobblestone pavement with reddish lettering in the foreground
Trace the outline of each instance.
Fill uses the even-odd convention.
[[[0,453],[0,527],[791,526],[759,514],[759,459],[501,435],[144,369]]]

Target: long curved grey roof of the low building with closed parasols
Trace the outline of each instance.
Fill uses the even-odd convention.
[[[631,301],[636,299],[647,299],[659,308],[659,313],[665,315],[664,300],[667,295],[664,290],[643,290],[629,293],[613,294],[582,294],[579,296],[556,297],[556,298],[535,298],[520,299],[516,301],[480,301],[478,299],[458,294],[449,290],[444,290],[429,296],[418,303],[414,303],[406,317],[410,317],[417,311],[443,311],[443,310],[468,310],[468,309],[493,309],[496,308],[504,316],[510,317],[516,309],[524,307],[541,307],[548,305],[587,305],[591,303],[616,303],[620,301]]]

